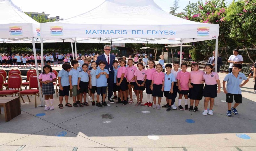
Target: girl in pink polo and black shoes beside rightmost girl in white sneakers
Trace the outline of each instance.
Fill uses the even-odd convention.
[[[197,63],[192,63],[190,65],[192,71],[190,72],[190,79],[188,82],[188,87],[189,87],[189,95],[188,98],[190,99],[190,107],[189,111],[198,111],[198,104],[199,101],[202,100],[203,98],[203,84],[201,83],[203,81],[203,74],[205,73],[202,70],[199,70],[199,66]],[[194,100],[195,102],[195,107],[194,105]]]

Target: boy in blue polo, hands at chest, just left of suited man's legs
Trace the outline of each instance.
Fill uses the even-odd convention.
[[[104,61],[99,62],[100,69],[96,70],[96,78],[97,78],[97,104],[96,106],[102,107],[102,105],[107,106],[105,101],[106,99],[106,91],[107,91],[107,79],[109,77],[109,72],[105,69],[106,63]],[[99,102],[100,94],[102,95],[102,105]]]

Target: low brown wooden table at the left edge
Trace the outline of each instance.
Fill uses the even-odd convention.
[[[1,97],[0,107],[4,107],[6,122],[21,114],[21,103],[19,97]]]

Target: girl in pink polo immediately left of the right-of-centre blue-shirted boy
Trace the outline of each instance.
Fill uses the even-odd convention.
[[[164,91],[164,73],[163,67],[161,64],[156,65],[156,72],[152,74],[152,82],[150,89],[152,90],[152,96],[153,96],[153,109],[161,109],[160,103],[161,99],[163,97],[163,91]],[[156,97],[158,97],[158,105],[156,106]]]

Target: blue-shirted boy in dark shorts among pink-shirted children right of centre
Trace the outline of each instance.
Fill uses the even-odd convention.
[[[174,81],[175,76],[171,73],[172,65],[166,64],[165,65],[166,73],[164,76],[164,96],[166,98],[166,105],[162,107],[168,107],[166,111],[171,111],[171,99],[173,95],[173,87],[174,87]]]

